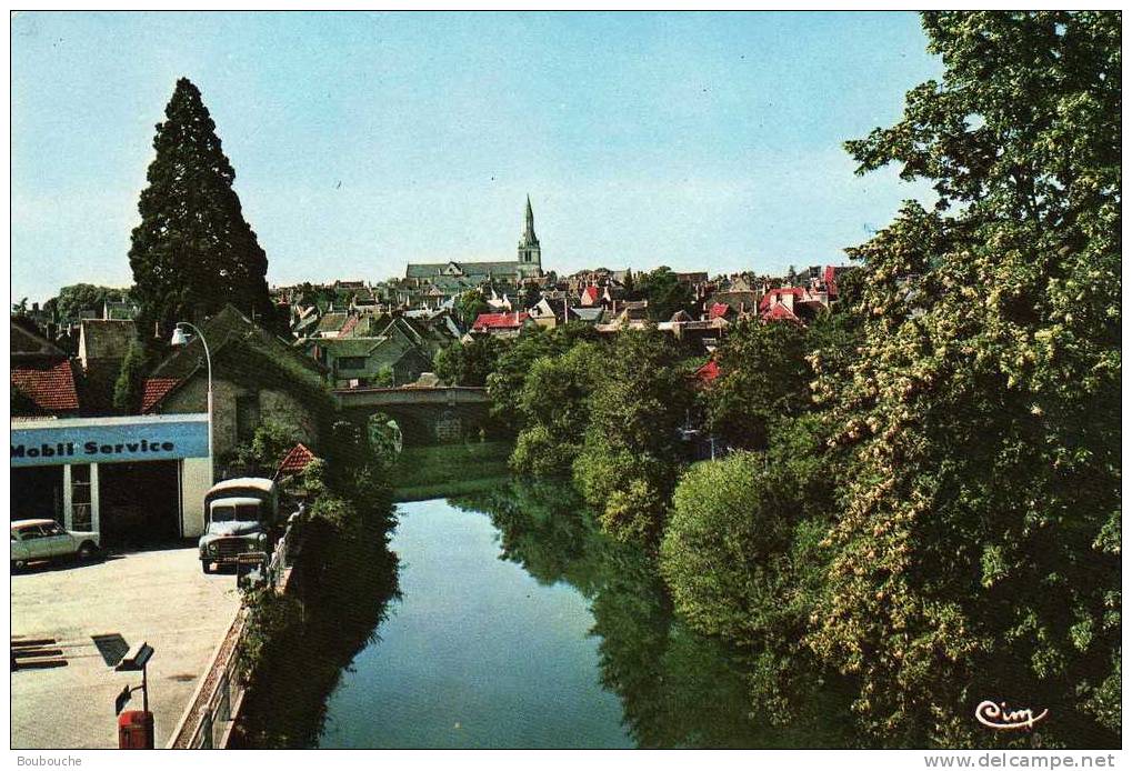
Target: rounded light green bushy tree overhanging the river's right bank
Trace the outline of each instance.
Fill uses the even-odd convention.
[[[809,706],[848,706],[815,687],[832,680],[797,641],[820,611],[835,511],[835,454],[821,419],[775,423],[771,448],[701,463],[681,478],[660,549],[660,571],[693,628],[749,652],[752,699],[778,723]],[[806,716],[809,716],[807,718]]]

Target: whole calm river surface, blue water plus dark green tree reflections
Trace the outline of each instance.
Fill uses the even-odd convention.
[[[791,743],[566,490],[403,504],[392,548],[401,599],[331,694],[321,747]]]

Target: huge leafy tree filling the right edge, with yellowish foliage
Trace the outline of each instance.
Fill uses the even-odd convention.
[[[818,362],[851,453],[811,648],[874,736],[949,745],[980,699],[1120,742],[1121,18],[933,12],[941,82],[848,143],[934,181],[851,251],[861,354]],[[1004,740],[1004,739],[1003,739]]]

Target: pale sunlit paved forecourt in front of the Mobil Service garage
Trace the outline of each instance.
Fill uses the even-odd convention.
[[[117,747],[114,697],[140,673],[106,666],[92,635],[154,648],[149,710],[163,747],[240,606],[235,576],[205,575],[195,548],[33,565],[11,576],[11,634],[54,640],[66,666],[11,673],[14,748]],[[127,710],[142,709],[136,692]]]

